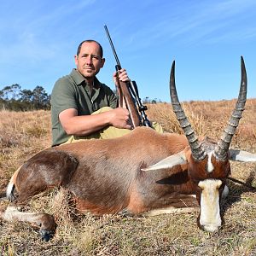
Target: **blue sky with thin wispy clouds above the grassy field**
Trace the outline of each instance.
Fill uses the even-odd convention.
[[[254,0],[0,0],[0,90],[43,86],[75,67],[84,39],[102,44],[105,66],[97,75],[114,89],[116,65],[104,25],[122,67],[141,98],[170,102],[169,78],[176,61],[179,100],[236,98],[241,55],[247,97],[256,97],[256,1]]]

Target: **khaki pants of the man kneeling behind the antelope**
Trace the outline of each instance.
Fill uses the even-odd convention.
[[[104,108],[100,108],[99,110],[97,110],[96,112],[91,113],[91,114],[107,112],[111,109],[113,109],[113,108],[104,107]],[[157,131],[159,133],[164,132],[161,125],[156,122],[152,122],[152,127],[155,131]],[[71,137],[69,137],[67,142],[64,144],[76,143],[76,142],[79,142],[84,139],[90,140],[90,139],[108,139],[108,138],[114,138],[114,137],[122,137],[125,134],[128,134],[130,132],[131,132],[131,130],[128,130],[128,129],[119,129],[119,128],[113,127],[111,125],[108,125],[105,128],[103,128],[102,130],[96,131],[93,134],[88,135],[88,136],[71,136]]]

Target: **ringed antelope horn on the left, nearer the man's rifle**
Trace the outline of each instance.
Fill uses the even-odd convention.
[[[206,152],[201,147],[201,144],[198,142],[198,138],[195,136],[195,131],[189,123],[189,119],[186,117],[181,107],[180,102],[177,98],[177,90],[175,84],[175,61],[172,62],[172,70],[170,76],[170,95],[172,101],[172,108],[176,114],[177,120],[181,127],[183,128],[184,134],[188,139],[189,146],[192,151],[192,156],[195,160],[203,160],[206,157]]]

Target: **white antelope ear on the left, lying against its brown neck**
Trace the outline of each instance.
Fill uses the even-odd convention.
[[[172,154],[166,157],[164,160],[160,160],[153,166],[148,166],[147,168],[142,168],[142,171],[157,171],[160,169],[172,168],[174,166],[182,165],[187,162],[187,158],[183,152]]]

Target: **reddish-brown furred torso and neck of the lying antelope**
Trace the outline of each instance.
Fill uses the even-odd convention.
[[[148,143],[138,143],[140,141]],[[163,203],[168,206],[167,199],[161,203],[157,201],[172,197],[172,190],[174,197],[178,191],[193,193],[193,189],[189,189],[187,171],[180,172],[181,167],[163,172],[140,169],[142,165],[153,165],[187,146],[186,137],[160,135],[140,127],[118,139],[84,141],[46,149],[20,168],[15,182],[20,193],[18,203],[45,189],[63,186],[77,198],[81,210],[94,214],[119,212],[125,207],[138,213],[150,210],[154,204],[155,207]]]

